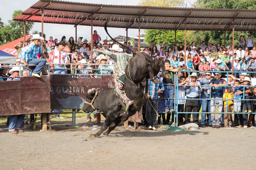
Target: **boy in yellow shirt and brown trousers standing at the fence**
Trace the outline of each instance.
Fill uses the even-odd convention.
[[[232,89],[232,87],[227,87],[227,91],[224,92],[224,94],[223,94],[223,99],[233,99],[234,98],[234,93],[231,91],[231,89]],[[233,108],[232,100],[228,100],[228,101],[224,100],[224,112],[227,111],[227,107],[228,107],[228,112],[232,112],[232,108]],[[224,126],[226,128],[231,128],[231,125],[232,125],[230,115],[231,114],[224,114]]]

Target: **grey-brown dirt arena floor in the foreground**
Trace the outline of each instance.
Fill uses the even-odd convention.
[[[256,169],[256,129],[134,131],[122,123],[109,136],[91,139],[96,123],[85,119],[76,124],[86,130],[66,127],[68,118],[53,121],[53,131],[38,124],[20,134],[0,124],[0,169]]]

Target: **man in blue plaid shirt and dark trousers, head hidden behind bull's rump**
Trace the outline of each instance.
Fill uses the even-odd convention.
[[[164,90],[163,82],[160,77],[156,76],[156,79],[159,81],[159,84],[153,83],[150,79],[147,79],[147,97],[146,100],[146,126],[150,130],[156,130],[155,122],[156,122],[156,111],[158,106],[158,95],[161,91]],[[149,103],[150,102],[150,103]]]

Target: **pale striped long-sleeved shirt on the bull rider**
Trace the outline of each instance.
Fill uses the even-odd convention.
[[[105,52],[102,53],[110,56],[114,60],[118,72],[125,71],[125,68],[128,64],[128,59],[132,58],[132,54],[123,52],[112,53],[108,50],[105,50]]]

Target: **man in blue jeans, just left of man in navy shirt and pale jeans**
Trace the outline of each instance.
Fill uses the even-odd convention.
[[[205,121],[206,121],[206,115],[203,113],[211,112],[211,100],[206,100],[206,99],[210,99],[211,87],[204,87],[204,86],[209,86],[211,80],[212,80],[212,73],[210,72],[206,72],[205,78],[200,79],[200,83],[202,85],[202,93],[201,93],[201,98],[202,98],[201,127],[202,128],[205,128]],[[212,127],[211,114],[207,114],[207,117],[209,119],[208,120],[209,126]]]

